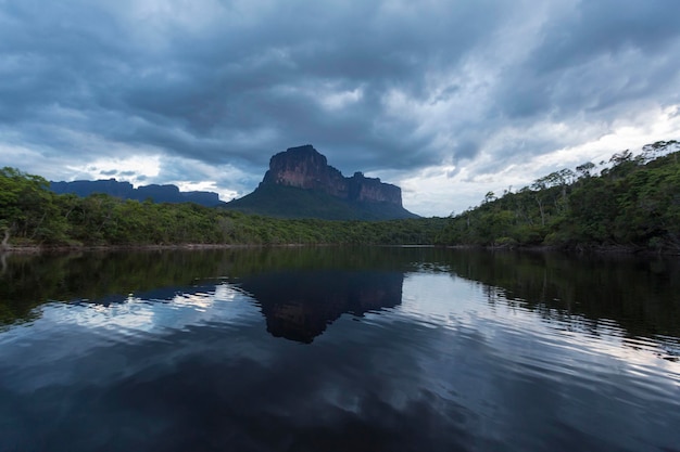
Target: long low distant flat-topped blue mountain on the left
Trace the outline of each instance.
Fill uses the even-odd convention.
[[[180,192],[176,185],[156,184],[135,189],[131,183],[118,182],[115,179],[50,182],[50,190],[56,194],[73,193],[83,197],[93,193],[104,193],[123,199],[152,199],[155,203],[196,203],[207,207],[225,204],[219,201],[219,195],[213,192]]]

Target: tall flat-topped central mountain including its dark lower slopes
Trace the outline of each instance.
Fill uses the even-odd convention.
[[[308,144],[274,155],[257,189],[227,203],[226,207],[284,218],[391,220],[418,217],[402,206],[399,186],[361,172],[347,178]]]

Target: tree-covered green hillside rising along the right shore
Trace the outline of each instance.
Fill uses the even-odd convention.
[[[554,245],[680,251],[680,148],[677,141],[563,169],[451,218],[444,244]]]

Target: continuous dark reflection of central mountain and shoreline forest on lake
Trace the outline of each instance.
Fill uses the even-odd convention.
[[[411,272],[479,282],[489,304],[528,309],[575,331],[596,334],[613,321],[631,339],[680,337],[673,259],[332,247],[5,256],[0,328],[35,320],[35,308],[52,300],[172,299],[226,281],[257,300],[273,334],[308,343],[343,312],[398,306]],[[677,358],[672,341],[666,349]]]

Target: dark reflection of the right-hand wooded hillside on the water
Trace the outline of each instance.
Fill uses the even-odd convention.
[[[667,360],[680,357],[677,259],[459,253],[443,261],[449,271],[483,283],[492,306],[530,310],[557,330],[620,337],[628,347],[653,343],[647,348]]]

